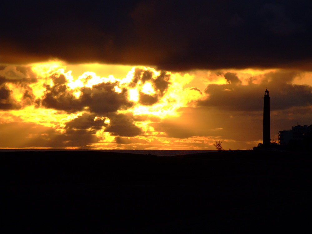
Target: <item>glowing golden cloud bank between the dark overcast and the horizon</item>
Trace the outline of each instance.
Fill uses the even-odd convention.
[[[310,71],[133,67],[122,79],[66,65],[1,66],[1,148],[250,149],[261,142],[263,95],[271,136],[312,123]],[[197,86],[198,85],[198,86]],[[200,89],[198,87],[205,87]]]

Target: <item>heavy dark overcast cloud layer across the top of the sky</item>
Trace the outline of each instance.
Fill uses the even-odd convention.
[[[312,59],[311,15],[306,0],[7,1],[0,60],[165,70],[296,66]]]

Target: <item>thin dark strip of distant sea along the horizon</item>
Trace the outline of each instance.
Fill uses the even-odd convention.
[[[114,152],[124,154],[145,154],[156,156],[175,156],[186,154],[199,154],[215,152],[216,150],[156,150],[156,149],[0,149],[0,152],[21,152],[21,151],[94,151]]]

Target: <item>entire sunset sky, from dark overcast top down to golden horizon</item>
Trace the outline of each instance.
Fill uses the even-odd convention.
[[[7,1],[1,149],[252,149],[312,124],[311,1]]]

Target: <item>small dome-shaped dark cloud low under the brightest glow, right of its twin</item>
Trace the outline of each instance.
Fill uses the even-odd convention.
[[[105,132],[113,136],[132,137],[142,133],[142,130],[133,124],[133,117],[124,114],[114,115],[110,118],[110,124]]]

